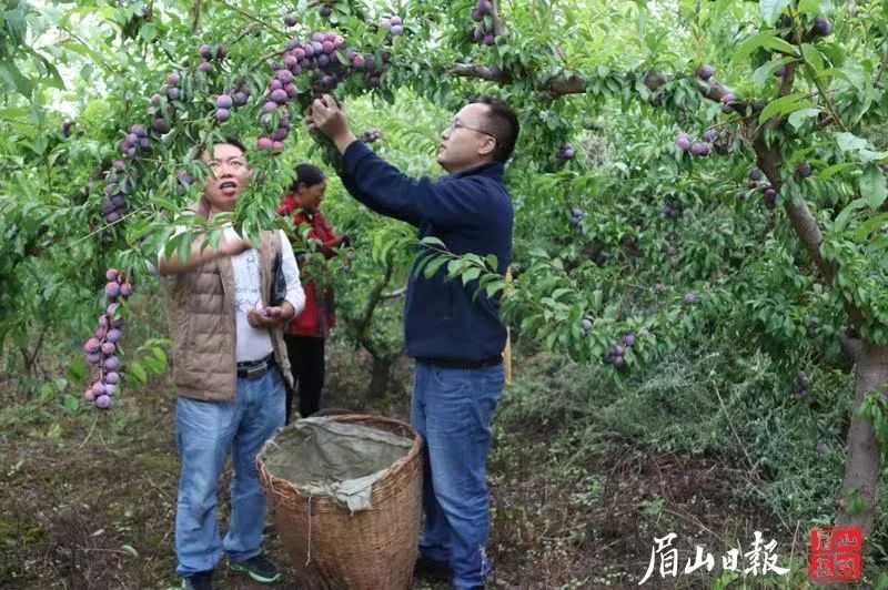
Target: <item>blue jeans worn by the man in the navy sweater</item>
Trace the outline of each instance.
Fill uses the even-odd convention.
[[[426,452],[420,552],[448,563],[456,588],[483,584],[491,569],[486,467],[504,380],[502,365],[446,369],[416,363],[411,423]]]

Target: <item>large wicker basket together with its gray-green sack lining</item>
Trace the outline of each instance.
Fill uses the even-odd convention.
[[[355,433],[351,426],[362,428]],[[303,433],[296,436],[300,427]],[[352,436],[362,438],[360,444]],[[282,469],[287,462],[279,460],[284,446],[311,458],[305,465],[289,461]],[[355,452],[367,449],[374,457],[360,468]],[[269,440],[256,458],[260,480],[302,584],[359,590],[412,586],[422,518],[421,450],[422,440],[408,425],[363,415],[297,420]]]

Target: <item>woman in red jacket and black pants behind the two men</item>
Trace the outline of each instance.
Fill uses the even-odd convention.
[[[336,237],[333,228],[319,211],[326,191],[327,180],[317,166],[300,164],[296,180],[278,207],[280,215],[293,217],[296,235],[302,235],[309,226],[307,237],[317,243],[317,251],[329,258],[336,255],[334,248],[346,243]],[[324,386],[324,340],[335,324],[333,315],[333,292],[320,289],[309,277],[303,283],[305,308],[284,332],[286,353],[293,367],[293,384],[299,382],[299,413],[306,418],[317,411],[321,388]],[[286,396],[286,424],[293,406],[293,393]]]

